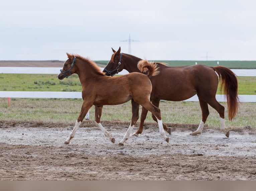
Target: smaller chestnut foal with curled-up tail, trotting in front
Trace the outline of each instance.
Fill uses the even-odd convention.
[[[147,110],[151,111],[154,116],[156,116],[160,135],[166,142],[169,142],[169,137],[165,135],[162,126],[160,109],[154,106],[149,100],[152,90],[149,76],[155,76],[158,74],[156,65],[148,64],[147,62],[140,63],[143,70],[144,68],[149,70],[147,75],[142,73],[131,73],[111,78],[106,76],[105,73],[101,72],[100,68],[93,61],[79,55],[68,53],[67,55],[68,60],[64,63],[63,69],[60,70],[57,77],[59,80],[63,80],[65,77],[68,78],[72,74],[77,74],[82,84],[82,98],[84,101],[75,127],[65,141],[65,144],[69,144],[70,140],[75,136],[79,125],[82,123],[86,113],[92,105],[95,105],[96,124],[110,139],[110,141],[115,143],[115,139],[101,125],[100,118],[102,107],[103,105],[117,105],[125,103],[129,100],[132,102],[131,124],[119,145],[123,145],[128,139],[134,124],[137,122],[139,118],[139,105],[142,105]]]

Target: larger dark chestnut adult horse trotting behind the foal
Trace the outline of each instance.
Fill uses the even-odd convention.
[[[123,69],[129,73],[140,72],[137,63],[141,61],[135,56],[121,53],[119,47],[116,52],[113,48],[112,57],[103,72],[106,75],[113,76]],[[169,101],[182,101],[197,94],[202,110],[202,120],[199,127],[192,135],[201,134],[206,119],[209,115],[208,104],[211,105],[220,115],[222,132],[229,137],[229,131],[226,130],[224,120],[224,106],[216,100],[216,92],[219,81],[221,89],[224,86],[224,93],[227,97],[229,120],[235,117],[238,110],[238,84],[236,75],[223,66],[209,67],[205,65],[167,67],[164,63],[155,63],[160,71],[159,75],[152,76],[152,92],[150,100],[159,107],[161,99]],[[219,79],[218,79],[218,76]],[[133,134],[138,136],[142,133],[144,120],[147,116],[147,109],[142,107],[139,129]],[[152,118],[156,121],[155,116]],[[170,128],[163,124],[163,128],[171,134]]]

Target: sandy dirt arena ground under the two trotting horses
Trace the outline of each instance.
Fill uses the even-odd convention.
[[[129,125],[102,122],[113,144],[85,123],[65,145],[72,126],[1,122],[0,180],[256,180],[256,134],[248,129],[226,138],[215,129],[191,136],[172,128],[167,143],[148,124],[118,146]]]

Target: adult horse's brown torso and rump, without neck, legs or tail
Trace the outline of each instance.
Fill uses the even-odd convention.
[[[209,66],[158,67],[159,75],[150,78],[153,98],[180,101],[202,91],[217,90],[218,76]]]

